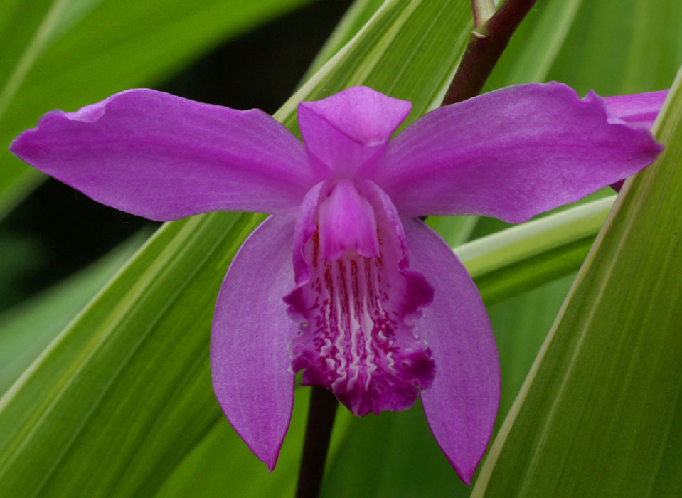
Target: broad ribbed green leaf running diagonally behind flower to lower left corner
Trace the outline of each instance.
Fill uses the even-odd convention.
[[[364,83],[412,100],[414,119],[442,95],[470,23],[467,2],[388,1],[276,116],[294,128],[302,98]],[[208,370],[215,297],[262,218],[167,223],[50,344],[0,399],[1,497],[149,496],[191,467],[223,418]],[[299,458],[289,447],[284,468]]]

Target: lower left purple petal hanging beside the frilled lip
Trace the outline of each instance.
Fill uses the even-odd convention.
[[[211,330],[213,390],[233,428],[272,470],[289,428],[294,375],[287,344],[296,325],[282,302],[294,282],[294,218],[271,216],[233,259]]]

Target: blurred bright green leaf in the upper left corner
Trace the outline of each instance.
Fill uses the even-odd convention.
[[[41,180],[6,151],[48,110],[153,85],[309,0],[7,0],[0,6],[0,215]]]

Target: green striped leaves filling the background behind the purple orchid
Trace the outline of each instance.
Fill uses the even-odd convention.
[[[0,142],[51,108],[160,85],[305,3],[4,1]],[[486,90],[550,79],[602,95],[670,88],[680,26],[678,0],[538,0]],[[412,100],[415,120],[438,105],[471,28],[468,0],[356,0],[275,117],[296,131],[297,102],[365,84]],[[362,419],[339,410],[323,496],[679,496],[679,84],[656,124],[666,154],[608,218],[608,193],[513,228],[430,218],[459,246],[499,346],[501,429],[474,487],[420,407]],[[41,176],[6,152],[0,168],[0,213],[15,216]],[[208,372],[220,281],[262,219],[166,223],[0,316],[0,497],[293,494],[307,389],[267,475],[220,413]],[[30,264],[30,252],[12,254],[0,267]]]

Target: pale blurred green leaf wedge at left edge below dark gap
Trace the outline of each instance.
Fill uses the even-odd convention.
[[[0,393],[85,307],[142,245],[136,235],[97,263],[0,315]]]

